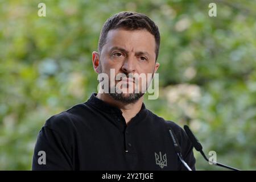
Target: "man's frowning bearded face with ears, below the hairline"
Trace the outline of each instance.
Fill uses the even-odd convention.
[[[121,77],[114,82],[109,80],[109,90],[115,87],[117,91],[119,88],[119,93],[109,93],[110,96],[126,103],[136,102],[143,96],[149,86],[145,84],[152,79],[152,76],[149,79],[147,76],[153,75],[159,67],[159,63],[155,63],[155,46],[154,35],[147,30],[118,28],[108,32],[101,55],[93,52],[94,69],[97,73],[106,73],[109,79],[110,69],[114,69],[115,76],[119,73],[126,75],[126,78]],[[141,74],[146,75],[147,79],[139,79],[138,75]],[[129,79],[130,75],[135,78]]]

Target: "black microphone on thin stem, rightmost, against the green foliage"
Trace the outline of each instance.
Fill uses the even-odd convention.
[[[188,138],[191,140],[191,143],[192,143],[193,147],[195,147],[195,149],[197,151],[199,151],[201,153],[201,155],[203,155],[204,159],[207,160],[207,162],[209,162],[209,159],[204,154],[202,145],[200,144],[199,140],[197,140],[197,138],[195,137],[195,135],[192,133],[192,131],[189,129],[189,127],[187,125],[184,125],[184,130],[187,133]],[[233,168],[233,167],[230,167],[230,166],[226,166],[226,165],[221,164],[221,163],[216,162],[216,163],[213,163],[213,164],[216,165],[216,166],[228,168],[228,169],[231,169],[231,170],[234,170],[234,171],[240,171],[240,169]]]

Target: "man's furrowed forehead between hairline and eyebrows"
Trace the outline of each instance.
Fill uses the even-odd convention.
[[[147,30],[124,30],[121,28],[110,30],[106,37],[107,49],[123,47],[127,51],[147,51],[155,54],[155,37]]]

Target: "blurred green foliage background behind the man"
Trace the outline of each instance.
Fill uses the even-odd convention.
[[[119,11],[150,16],[162,36],[147,108],[189,125],[218,162],[256,169],[256,1],[0,0],[0,170],[30,170],[46,119],[97,92],[92,51]],[[198,170],[221,169],[195,156]]]

